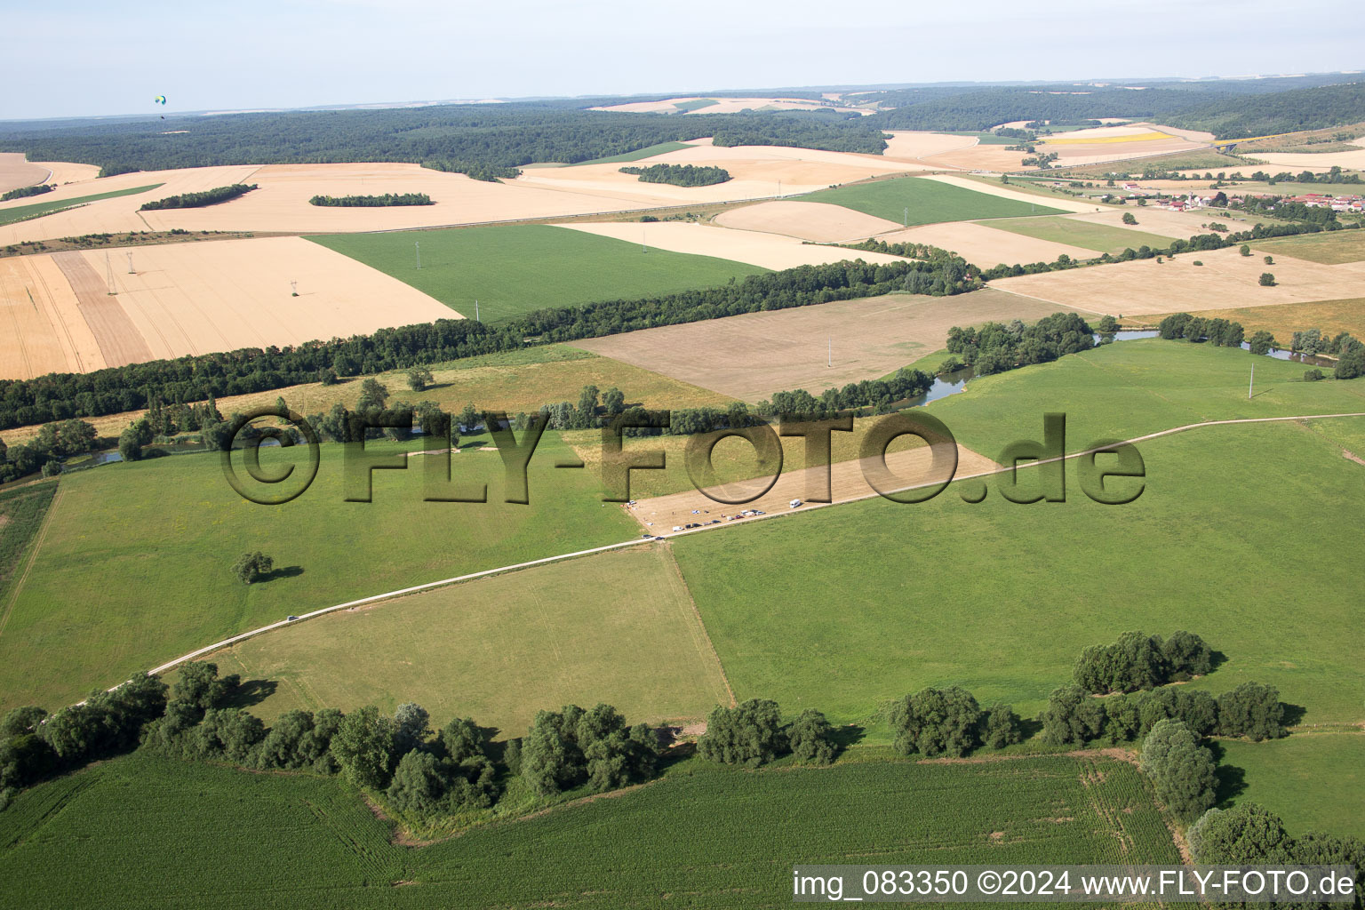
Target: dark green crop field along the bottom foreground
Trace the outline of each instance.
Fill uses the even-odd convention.
[[[0,813],[0,891],[35,910],[130,894],[147,909],[786,907],[793,864],[925,857],[1178,862],[1137,769],[1104,759],[758,772],[689,760],[612,798],[416,847],[336,779],[143,753]]]

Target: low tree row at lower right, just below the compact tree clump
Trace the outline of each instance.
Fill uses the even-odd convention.
[[[1183,686],[1097,699],[1073,684],[1055,689],[1040,715],[1044,742],[1077,746],[1096,739],[1127,742],[1147,735],[1166,718],[1181,720],[1201,737],[1218,734],[1259,742],[1286,735],[1279,692],[1259,682],[1244,682],[1216,699]]]

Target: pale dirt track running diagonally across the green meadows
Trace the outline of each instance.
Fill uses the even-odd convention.
[[[1219,427],[1219,426],[1246,424],[1246,423],[1287,423],[1287,422],[1291,422],[1291,420],[1332,420],[1332,419],[1339,419],[1339,417],[1365,417],[1365,411],[1362,411],[1362,412],[1354,412],[1354,413],[1312,413],[1312,415],[1294,415],[1294,416],[1284,416],[1284,417],[1237,417],[1237,419],[1230,419],[1230,420],[1204,420],[1201,423],[1189,423],[1189,424],[1185,424],[1185,426],[1181,426],[1181,427],[1173,427],[1170,430],[1159,430],[1156,432],[1148,432],[1148,434],[1141,435],[1141,437],[1133,437],[1132,439],[1123,439],[1123,441],[1119,441],[1119,442],[1112,442],[1110,445],[1095,446],[1095,447],[1091,447],[1091,449],[1084,449],[1081,452],[1073,452],[1073,453],[1069,453],[1069,454],[1058,456],[1055,458],[1040,458],[1037,461],[1029,461],[1028,464],[1022,464],[1022,465],[1003,467],[1003,468],[996,468],[994,471],[980,471],[977,473],[968,473],[968,475],[962,475],[962,476],[956,476],[954,475],[953,479],[950,480],[950,483],[957,482],[957,480],[972,480],[972,479],[976,479],[976,478],[990,478],[990,476],[1005,473],[1005,472],[1009,472],[1009,471],[1026,471],[1028,468],[1039,468],[1039,467],[1041,467],[1044,464],[1055,464],[1058,461],[1070,461],[1072,458],[1080,458],[1082,456],[1095,454],[1095,453],[1099,453],[1099,452],[1111,452],[1112,449],[1115,449],[1117,446],[1121,446],[1121,445],[1132,445],[1134,442],[1144,442],[1147,439],[1158,439],[1160,437],[1168,437],[1168,435],[1173,435],[1173,434],[1177,434],[1177,432],[1185,432],[1188,430],[1197,430],[1200,427]],[[910,490],[923,490],[925,487],[936,487],[936,486],[939,486],[942,483],[943,483],[942,480],[931,480],[928,483],[915,483],[915,484],[909,484],[909,486],[905,486],[905,487],[898,487],[895,490],[887,490],[887,493],[906,493],[906,491],[910,491]],[[60,494],[60,490],[59,490],[59,494]],[[771,514],[753,516],[751,518],[745,518],[744,524],[745,525],[751,525],[751,524],[755,524],[758,521],[766,521],[766,520],[771,520],[771,518],[782,518],[782,517],[797,516],[797,514],[809,514],[811,512],[815,512],[815,510],[819,510],[819,509],[829,509],[829,508],[845,505],[845,503],[849,503],[849,502],[864,502],[867,499],[876,499],[876,498],[879,498],[883,494],[874,491],[874,493],[863,494],[860,497],[852,497],[849,499],[841,499],[839,502],[809,502],[809,503],[804,505],[803,508],[793,509],[790,512],[775,512],[775,513],[771,513]],[[51,508],[49,508],[49,513],[48,514],[49,516],[52,514],[51,513]],[[715,531],[715,529],[726,528],[726,527],[732,527],[732,524],[704,525],[704,527],[700,527],[700,528],[693,528],[691,531],[678,531],[678,532],[673,532],[673,533],[667,533],[667,535],[648,535],[648,536],[662,536],[662,538],[666,538],[667,540],[673,540],[673,539],[682,538],[682,536],[687,536],[687,535],[700,533],[700,532],[704,532],[704,531]],[[202,658],[206,654],[212,654],[214,651],[221,651],[222,648],[228,648],[228,647],[231,647],[231,645],[233,645],[233,644],[236,644],[239,641],[246,641],[247,639],[254,639],[255,636],[265,634],[266,632],[273,632],[273,630],[281,629],[284,626],[298,625],[299,622],[303,622],[304,619],[313,619],[315,617],[321,617],[321,615],[325,615],[328,613],[336,613],[337,610],[349,610],[351,607],[359,607],[359,606],[364,606],[364,604],[370,604],[370,603],[379,603],[382,600],[393,600],[396,598],[403,598],[403,596],[410,595],[410,593],[418,593],[420,591],[431,591],[434,588],[444,588],[446,585],[460,584],[461,581],[472,581],[475,578],[483,578],[483,577],[487,577],[487,576],[501,574],[504,572],[516,572],[516,570],[520,570],[520,569],[530,569],[531,566],[547,565],[547,563],[551,563],[551,562],[560,562],[562,559],[573,559],[576,557],[586,557],[586,555],[591,555],[594,553],[607,553],[610,550],[620,550],[622,547],[633,547],[633,546],[642,546],[642,544],[647,544],[647,543],[651,543],[651,540],[647,539],[647,535],[642,535],[640,538],[633,538],[631,540],[622,540],[620,543],[607,543],[607,544],[603,544],[601,547],[590,547],[587,550],[576,550],[573,553],[562,553],[562,554],[554,555],[554,557],[542,557],[539,559],[530,559],[527,562],[517,562],[515,565],[500,566],[497,569],[483,569],[482,572],[471,572],[468,574],[456,576],[453,578],[441,578],[440,581],[427,581],[425,584],[412,585],[410,588],[400,588],[397,591],[386,591],[384,593],[370,595],[369,598],[360,598],[358,600],[348,600],[345,603],[337,603],[337,604],[333,604],[330,607],[322,607],[319,610],[313,610],[311,613],[300,614],[298,619],[280,619],[278,622],[272,622],[270,625],[265,625],[265,626],[261,626],[258,629],[251,629],[248,632],[242,632],[239,634],[235,634],[235,636],[231,636],[228,639],[224,639],[222,641],[216,641],[214,644],[205,645],[203,648],[198,648],[195,651],[191,651],[190,654],[182,655],[182,656],[176,658],[175,660],[168,660],[167,663],[162,663],[161,666],[153,667],[152,670],[147,670],[146,673],[147,673],[147,675],[156,675],[158,673],[164,673],[167,670],[172,670],[172,669],[175,669],[175,667],[177,667],[182,663],[186,663],[188,660],[194,660],[195,658]],[[25,572],[25,574],[27,574],[27,572]],[[688,589],[688,596],[691,596],[691,589]],[[703,629],[704,629],[704,625],[703,625]],[[719,656],[717,658],[717,662],[719,663]],[[722,673],[723,673],[723,666],[722,666]],[[123,684],[120,682],[116,686],[111,686],[108,689],[108,692],[113,692],[115,689],[117,689],[121,685]],[[729,686],[729,681],[728,679],[726,679],[726,686]],[[732,697],[733,697],[733,692],[732,692]]]

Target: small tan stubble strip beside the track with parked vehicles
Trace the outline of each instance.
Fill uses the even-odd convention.
[[[915,439],[917,442],[917,439]],[[639,449],[648,447],[648,439],[632,442]],[[743,443],[741,443],[743,445]],[[934,449],[927,445],[916,445],[886,453],[886,469],[894,478],[894,488],[901,490],[917,484],[940,483],[947,476],[946,465],[934,464]],[[882,467],[880,458],[863,458],[854,461],[835,461],[829,467],[830,472],[830,499],[833,502],[848,502],[876,495],[876,490],[867,482],[865,471],[875,471]],[[957,469],[953,476],[965,478],[976,473],[996,471],[998,464],[977,454],[971,449],[957,446]],[[771,475],[768,475],[771,476]],[[763,488],[762,482],[738,482],[726,484],[717,490],[726,499],[737,499],[752,495]],[[799,471],[784,471],[773,488],[762,497],[743,505],[726,505],[717,502],[698,490],[673,493],[663,497],[640,499],[627,512],[640,523],[640,527],[650,533],[670,536],[672,528],[687,527],[691,523],[703,524],[719,518],[726,521],[726,516],[734,516],[741,509],[758,509],[767,514],[792,512],[793,499],[807,499],[812,493],[823,495],[824,469],[801,468]],[[808,509],[809,506],[799,506]],[[702,514],[696,514],[696,513]],[[734,518],[736,521],[752,521],[753,518]]]

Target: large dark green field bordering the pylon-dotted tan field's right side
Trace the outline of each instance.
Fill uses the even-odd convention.
[[[730,259],[642,250],[553,225],[336,233],[308,240],[393,276],[468,319],[478,302],[483,322],[546,307],[708,288],[767,271]]]

